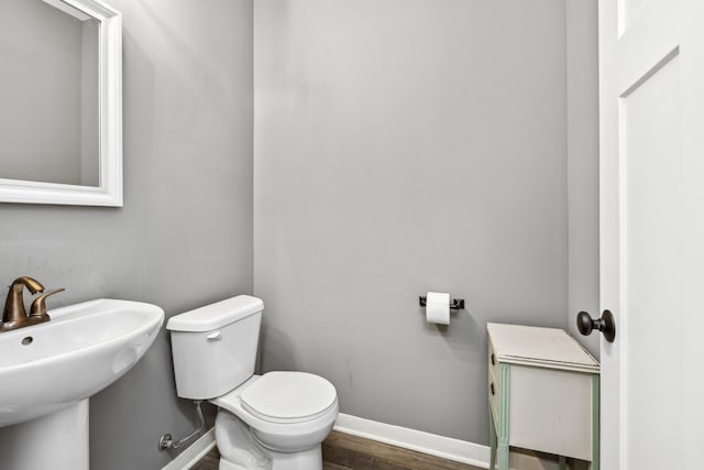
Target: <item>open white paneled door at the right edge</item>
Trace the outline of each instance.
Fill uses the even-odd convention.
[[[704,1],[600,0],[602,469],[704,469]]]

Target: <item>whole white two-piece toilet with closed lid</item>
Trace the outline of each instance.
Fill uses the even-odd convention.
[[[218,405],[220,470],[321,470],[337,392],[305,372],[254,375],[263,310],[240,295],[169,318],[176,392]]]

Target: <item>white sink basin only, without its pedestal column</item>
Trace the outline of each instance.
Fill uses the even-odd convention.
[[[0,334],[0,427],[100,392],[144,356],[164,323],[155,305],[105,298],[48,315],[48,323]]]

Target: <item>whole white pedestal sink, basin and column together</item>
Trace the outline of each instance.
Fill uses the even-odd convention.
[[[164,310],[97,299],[0,334],[0,467],[88,470],[88,398],[152,346]]]

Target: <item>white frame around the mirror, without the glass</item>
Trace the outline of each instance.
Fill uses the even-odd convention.
[[[122,15],[100,0],[65,3],[95,18],[99,29],[99,186],[0,178],[1,203],[122,206]]]

